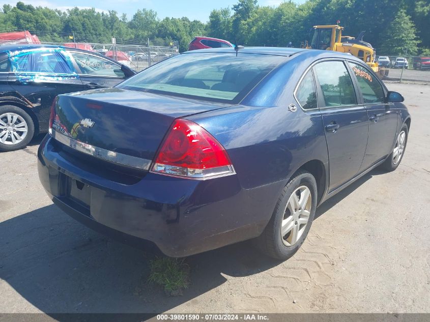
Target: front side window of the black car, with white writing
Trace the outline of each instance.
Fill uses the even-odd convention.
[[[82,75],[110,76],[124,78],[125,74],[121,67],[111,61],[95,55],[70,51],[70,55],[76,62]]]

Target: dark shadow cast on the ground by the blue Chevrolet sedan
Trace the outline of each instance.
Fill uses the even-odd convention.
[[[376,174],[322,204],[316,218]],[[226,281],[222,274],[250,276],[280,264],[249,244],[189,257],[191,287],[171,298],[147,283],[149,261],[142,250],[105,238],[51,205],[0,223],[0,278],[47,313],[164,312],[190,300],[198,303],[199,295]],[[16,302],[0,299],[5,308]],[[209,311],[210,303],[205,305]]]

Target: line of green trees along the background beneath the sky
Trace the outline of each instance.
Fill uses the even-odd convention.
[[[185,4],[184,4],[185,6]],[[379,54],[430,55],[430,0],[307,0],[298,5],[259,6],[257,0],[238,0],[232,8],[214,9],[206,23],[187,17],[160,19],[150,9],[139,9],[128,19],[116,11],[73,8],[67,11],[34,7],[18,2],[3,5],[0,32],[28,30],[41,41],[139,42],[144,39],[177,40],[180,51],[194,36],[209,36],[245,46],[299,47],[312,36],[312,26],[336,24],[344,35],[364,40]]]

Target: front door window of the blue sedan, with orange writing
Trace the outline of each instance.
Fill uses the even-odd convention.
[[[355,77],[357,78],[358,87],[363,94],[364,103],[384,102],[385,95],[382,85],[372,73],[361,65],[349,63]]]

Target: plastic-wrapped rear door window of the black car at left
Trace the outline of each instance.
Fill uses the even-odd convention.
[[[10,60],[15,72],[72,73],[72,69],[59,50],[23,52],[10,57]]]

